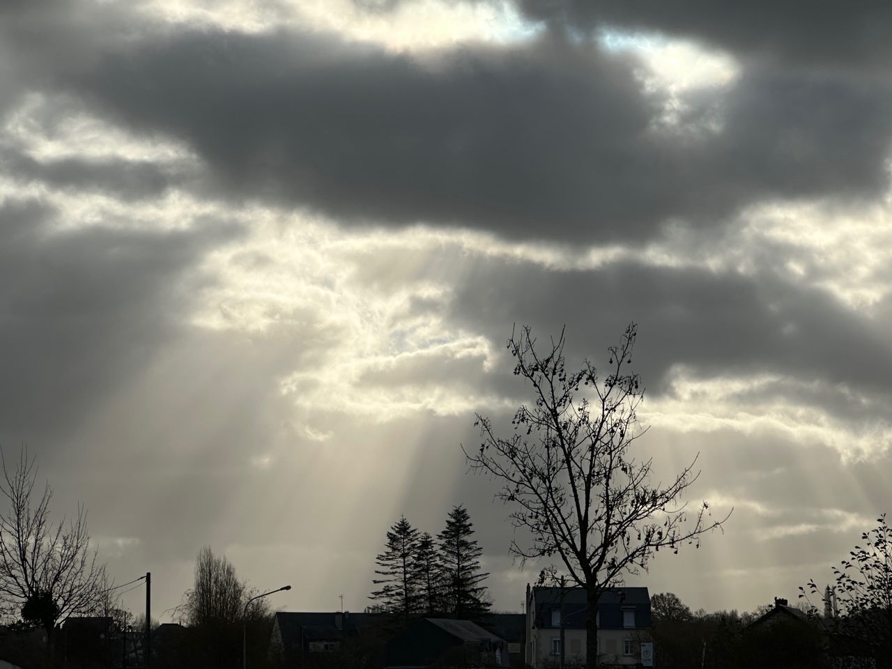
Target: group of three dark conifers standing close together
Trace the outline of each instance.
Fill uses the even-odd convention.
[[[436,537],[421,533],[400,516],[386,533],[384,552],[376,558],[373,579],[381,586],[369,596],[371,611],[401,616],[404,624],[418,615],[479,619],[491,608],[483,586],[483,549],[471,537],[474,525],[462,505],[453,507]]]

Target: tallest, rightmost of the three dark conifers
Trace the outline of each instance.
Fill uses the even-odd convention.
[[[446,593],[446,612],[456,618],[479,618],[489,612],[490,602],[483,596],[486,588],[481,582],[490,574],[480,573],[483,549],[471,541],[474,533],[467,509],[452,508],[446,528],[437,535],[440,542],[442,574]]]

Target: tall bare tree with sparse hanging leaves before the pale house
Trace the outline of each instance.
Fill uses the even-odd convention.
[[[681,503],[697,481],[697,458],[663,485],[651,483],[649,459],[632,456],[632,444],[646,431],[636,415],[644,387],[630,367],[637,332],[628,326],[608,349],[607,376],[600,378],[588,360],[576,371],[566,369],[564,330],[550,347],[538,349],[529,326],[515,331],[507,348],[515,376],[532,386],[533,405],[517,409],[507,438],[478,414],[480,446],[462,447],[473,471],[500,481],[496,498],[515,506],[512,523],[529,533],[529,544],[512,541],[511,552],[522,563],[558,555],[586,589],[591,648],[601,593],[624,574],[647,570],[660,549],[699,546],[703,533],[721,529],[728,518],[713,518],[706,502],[690,514]],[[589,665],[596,661],[592,653]]]

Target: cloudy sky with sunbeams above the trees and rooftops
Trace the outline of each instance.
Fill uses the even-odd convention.
[[[606,361],[723,533],[630,585],[753,610],[892,507],[892,5],[3,0],[0,444],[175,618],[204,545],[368,606],[463,504],[515,325]],[[523,539],[523,537],[521,537]],[[124,601],[140,611],[145,592]]]

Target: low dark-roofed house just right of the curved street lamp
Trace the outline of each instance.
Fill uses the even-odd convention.
[[[269,654],[279,664],[291,666],[310,655],[338,652],[359,635],[369,615],[279,611],[273,620]]]

